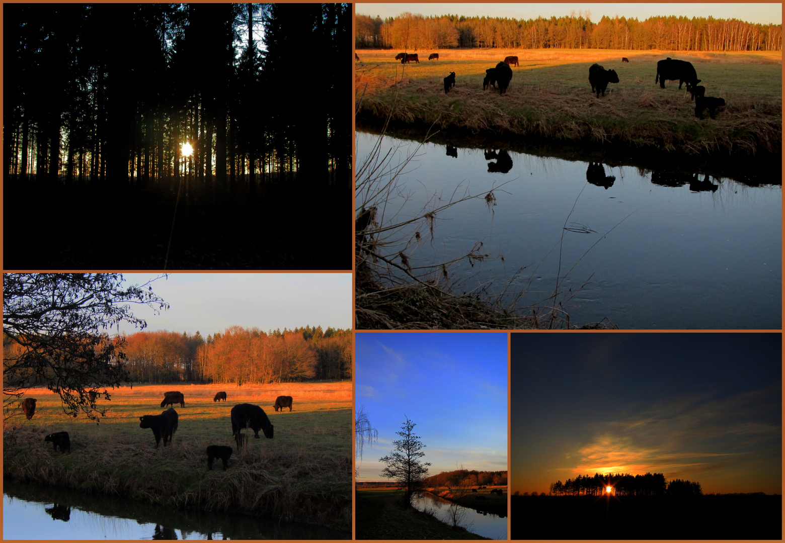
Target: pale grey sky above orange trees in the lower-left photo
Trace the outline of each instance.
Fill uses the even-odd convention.
[[[160,274],[125,273],[126,282],[141,285]],[[146,330],[170,330],[203,337],[228,326],[256,326],[262,331],[298,326],[352,327],[352,274],[349,273],[170,273],[152,282],[153,292],[170,304],[154,315],[134,306],[147,320]],[[120,331],[138,330],[127,323]]]

